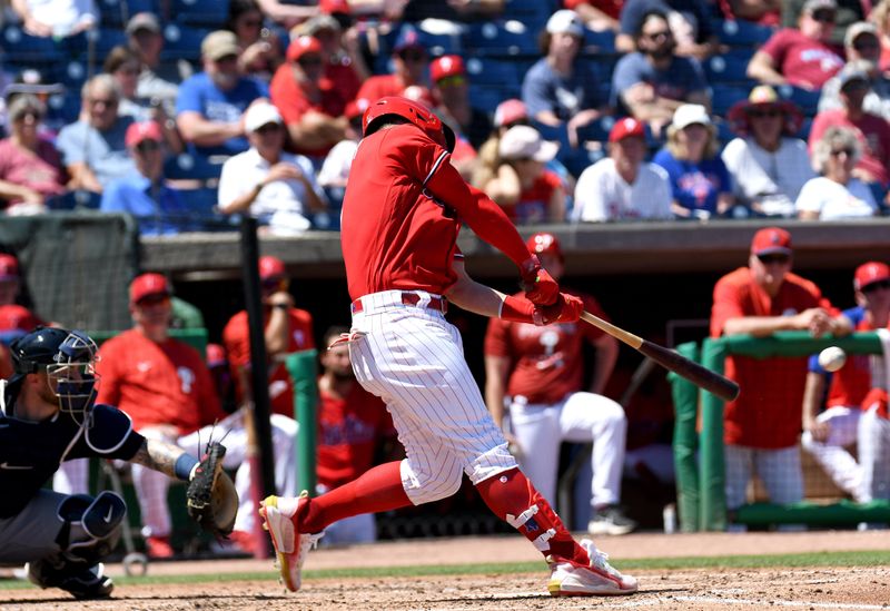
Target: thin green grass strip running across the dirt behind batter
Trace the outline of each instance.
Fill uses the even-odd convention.
[[[651,558],[620,560],[615,566],[622,571],[683,570],[683,569],[790,569],[801,566],[876,566],[890,564],[890,551],[814,552],[773,555],[725,555],[715,558]],[[425,575],[471,575],[536,573],[545,570],[544,562],[504,562],[481,564],[444,564],[441,566],[374,566],[364,569],[327,569],[305,571],[305,579],[383,579]],[[276,580],[278,573],[268,571],[241,573],[181,574],[142,578],[115,578],[118,584],[201,583],[222,581]],[[0,590],[27,587],[21,581],[0,581]]]

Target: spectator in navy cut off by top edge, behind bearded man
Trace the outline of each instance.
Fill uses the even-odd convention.
[[[711,27],[710,7],[703,0],[626,0],[621,9],[615,49],[625,53],[640,50],[636,33],[653,11],[666,16],[678,56],[705,59],[716,52],[718,39]]]

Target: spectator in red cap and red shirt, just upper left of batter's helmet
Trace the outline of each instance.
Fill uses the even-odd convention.
[[[271,101],[284,117],[296,150],[320,165],[346,135],[344,100],[325,78],[322,43],[301,36],[287,48],[287,63],[271,79]]]

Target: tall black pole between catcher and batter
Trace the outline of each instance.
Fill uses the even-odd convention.
[[[269,423],[269,380],[266,358],[265,324],[259,286],[259,240],[257,221],[241,217],[241,277],[244,300],[247,308],[247,326],[250,331],[250,392],[254,404],[259,459],[263,469],[263,495],[275,494],[275,459],[271,451],[271,424]],[[256,477],[259,474],[254,474]]]

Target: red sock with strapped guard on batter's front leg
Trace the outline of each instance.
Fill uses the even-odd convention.
[[[488,507],[531,541],[545,556],[550,554],[590,564],[587,552],[572,539],[562,520],[518,469],[512,469],[476,484]],[[531,510],[531,511],[530,511]]]

